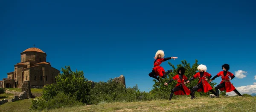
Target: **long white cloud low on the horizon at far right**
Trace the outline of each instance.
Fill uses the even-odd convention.
[[[255,83],[253,83],[253,84],[255,84]],[[236,90],[238,90],[241,95],[243,95],[243,94],[250,95],[252,93],[256,93],[256,85],[247,85],[247,86],[236,87]],[[227,92],[227,95],[235,96],[237,94],[236,94],[236,92],[232,91],[232,92]]]

